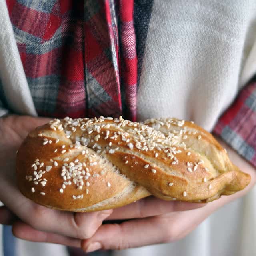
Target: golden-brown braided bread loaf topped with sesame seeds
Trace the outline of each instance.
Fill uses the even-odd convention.
[[[24,140],[16,173],[27,198],[80,212],[116,208],[151,194],[209,202],[250,182],[211,134],[175,118],[52,120]]]

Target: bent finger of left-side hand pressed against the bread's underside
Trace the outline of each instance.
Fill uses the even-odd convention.
[[[8,196],[3,195],[2,202],[17,214],[17,216],[37,230],[57,233],[73,238],[91,237],[102,221],[108,217],[112,210],[73,213],[53,210],[36,204],[23,196],[11,182],[1,185],[1,190],[8,191]]]

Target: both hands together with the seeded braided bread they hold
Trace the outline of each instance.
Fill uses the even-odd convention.
[[[49,121],[0,118],[0,223],[25,240],[87,252],[172,242],[256,181],[250,164],[191,122]]]

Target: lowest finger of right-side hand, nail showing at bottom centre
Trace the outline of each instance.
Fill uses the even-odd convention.
[[[86,252],[98,249],[127,249],[149,244],[162,243],[166,238],[161,227],[157,228],[157,218],[149,217],[130,220],[121,224],[102,225],[81,247]]]

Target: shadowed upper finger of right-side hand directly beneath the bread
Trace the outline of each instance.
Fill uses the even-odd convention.
[[[135,203],[128,204],[121,208],[114,209],[114,212],[106,218],[107,220],[121,220],[132,218],[145,218],[157,216],[169,212],[187,211],[201,208],[206,204],[181,202],[181,201],[164,201],[155,197],[141,199]]]

